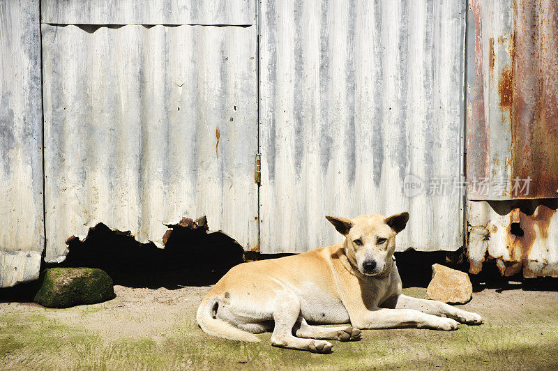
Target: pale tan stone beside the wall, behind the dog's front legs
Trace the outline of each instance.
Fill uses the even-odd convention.
[[[465,272],[432,265],[432,280],[426,289],[426,297],[444,303],[467,303],[473,295],[473,285]]]

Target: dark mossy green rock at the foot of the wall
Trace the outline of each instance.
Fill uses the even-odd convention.
[[[114,298],[112,278],[97,268],[49,268],[40,277],[35,302],[47,308],[69,308]]]

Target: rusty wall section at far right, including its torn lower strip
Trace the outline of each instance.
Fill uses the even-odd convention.
[[[468,202],[471,271],[491,257],[504,275],[558,276],[558,2],[471,10],[468,197],[498,200]]]

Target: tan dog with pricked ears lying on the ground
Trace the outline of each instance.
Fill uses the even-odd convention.
[[[331,351],[325,340],[360,338],[358,328],[455,330],[481,324],[476,313],[405,296],[393,261],[395,235],[409,213],[353,220],[326,217],[345,241],[299,255],[234,266],[204,298],[197,322],[210,335],[257,342],[273,328],[277,347]],[[315,324],[347,324],[324,327]]]

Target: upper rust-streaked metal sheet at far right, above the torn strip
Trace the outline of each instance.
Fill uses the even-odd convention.
[[[558,197],[558,2],[473,0],[471,10],[468,198]]]

